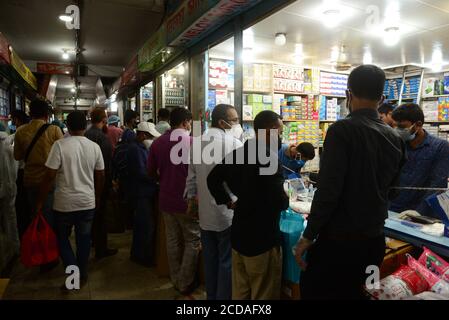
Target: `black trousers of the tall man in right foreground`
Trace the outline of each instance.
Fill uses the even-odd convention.
[[[307,253],[307,269],[301,274],[304,300],[365,299],[363,285],[370,265],[380,267],[385,237],[336,240],[319,237]]]

